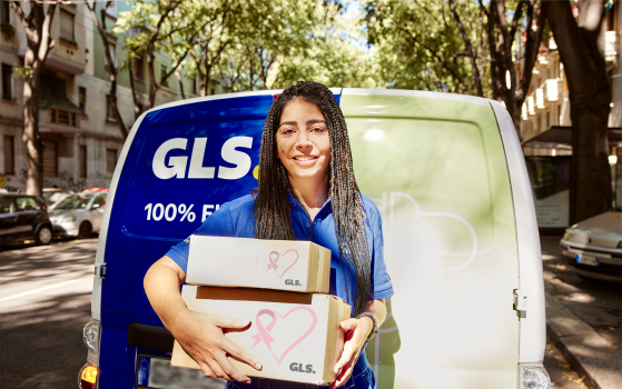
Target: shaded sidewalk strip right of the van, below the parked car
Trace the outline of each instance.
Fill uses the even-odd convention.
[[[580,279],[560,259],[559,238],[541,238],[546,333],[592,389],[622,382],[622,286]]]

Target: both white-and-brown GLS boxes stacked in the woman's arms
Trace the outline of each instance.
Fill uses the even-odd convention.
[[[330,250],[313,242],[192,236],[181,297],[196,312],[251,322],[225,335],[263,363],[230,358],[243,373],[322,386],[335,380],[351,316],[329,280]],[[171,365],[199,369],[177,341]]]

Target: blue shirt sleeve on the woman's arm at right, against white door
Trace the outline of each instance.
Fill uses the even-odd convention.
[[[375,300],[386,299],[394,295],[393,283],[384,262],[383,220],[373,200],[366,201],[365,208],[372,230],[372,297]]]

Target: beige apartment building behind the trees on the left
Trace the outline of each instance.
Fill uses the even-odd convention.
[[[101,3],[98,3],[101,7]],[[108,26],[115,26],[118,12],[131,3],[113,2],[108,11]],[[24,9],[28,3],[21,3]],[[97,12],[99,14],[99,12]],[[26,32],[9,6],[0,0],[0,64],[2,70],[0,100],[0,178],[9,191],[26,190],[27,160],[22,142],[23,81],[16,74],[26,53]],[[131,33],[128,32],[128,33]],[[124,146],[118,123],[108,103],[110,91],[103,43],[85,3],[59,4],[51,26],[56,47],[50,51],[41,74],[39,90],[39,132],[45,144],[43,187],[79,191],[107,188]],[[127,59],[126,36],[108,34],[117,66]],[[149,84],[147,63],[134,61],[138,100],[147,106]],[[156,69],[170,69],[170,58],[157,53]],[[184,73],[184,70],[181,70]],[[182,77],[186,97],[196,97],[196,80]],[[221,93],[214,82],[211,93]],[[119,71],[118,107],[127,128],[135,121],[129,71]],[[177,78],[160,88],[156,104],[180,99]],[[0,187],[2,187],[0,184]]]

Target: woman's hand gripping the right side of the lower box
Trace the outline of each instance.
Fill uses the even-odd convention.
[[[339,327],[345,331],[345,345],[342,358],[335,365],[337,378],[330,383],[330,389],[343,386],[349,379],[361,349],[374,328],[374,322],[368,317],[362,317],[361,319],[344,320]]]

